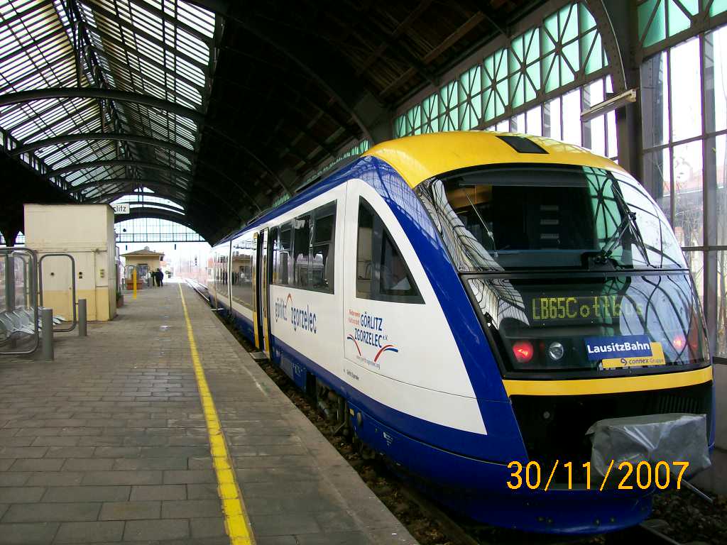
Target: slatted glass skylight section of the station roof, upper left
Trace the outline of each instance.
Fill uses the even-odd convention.
[[[204,114],[219,24],[182,0],[0,0],[0,94],[100,87]],[[59,138],[88,133],[111,137]],[[28,147],[20,158],[81,201],[111,200],[145,183],[177,201],[191,185],[199,131],[189,118],[144,104],[49,97],[2,108],[0,145],[10,153]]]

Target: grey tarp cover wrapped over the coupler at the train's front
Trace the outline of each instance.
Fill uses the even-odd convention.
[[[622,461],[630,462],[634,469],[640,461],[648,461],[652,469],[659,461],[666,461],[677,474],[681,467],[672,462],[688,461],[684,477],[696,475],[712,464],[704,414],[649,414],[599,420],[586,435],[593,435],[591,467],[601,477],[606,475],[611,460],[612,474]]]

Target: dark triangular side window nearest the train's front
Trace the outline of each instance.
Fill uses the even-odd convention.
[[[358,201],[356,296],[402,303],[422,303],[417,284],[379,215]]]

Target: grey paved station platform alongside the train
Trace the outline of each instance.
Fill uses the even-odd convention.
[[[416,543],[181,286],[254,541]],[[54,362],[0,358],[0,545],[230,543],[207,411],[177,283],[57,334]]]

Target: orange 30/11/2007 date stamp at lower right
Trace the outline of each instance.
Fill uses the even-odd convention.
[[[542,489],[547,491],[551,485],[555,485],[553,476],[556,470],[559,470],[557,481],[560,490],[563,490],[563,485],[566,484],[568,490],[573,488],[582,490],[585,487],[586,490],[603,491],[609,477],[612,483],[618,484],[615,487],[609,485],[608,490],[613,490],[613,488],[618,490],[633,490],[634,488],[647,490],[652,485],[659,488],[659,490],[664,490],[670,485],[676,485],[676,488],[679,489],[687,467],[689,467],[688,461],[657,461],[656,464],[640,461],[633,464],[630,461],[616,462],[611,460],[606,469],[606,474],[601,477],[601,475],[595,475],[595,472],[592,475],[590,461],[585,462],[585,464],[574,464],[571,461],[561,463],[560,460],[555,460],[552,467],[543,466],[542,468],[537,461],[529,461],[524,466],[519,461],[511,461],[510,464],[507,464],[507,468],[512,469],[513,472],[510,473],[510,479],[507,480],[507,488],[512,490],[529,488],[530,490]],[[574,477],[576,475],[578,476]],[[567,481],[564,480],[564,477],[567,478]]]

